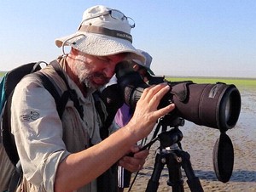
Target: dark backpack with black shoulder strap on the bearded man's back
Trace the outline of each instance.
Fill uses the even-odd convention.
[[[15,172],[10,178],[9,182],[9,190],[8,191],[15,191],[17,186],[20,184],[20,178],[22,176],[22,169],[20,166],[19,155],[17,153],[15,139],[14,136],[11,134],[11,127],[10,127],[10,106],[11,106],[11,99],[15,87],[20,80],[26,76],[27,74],[33,73],[33,75],[38,76],[41,80],[44,88],[46,88],[49,93],[55,99],[56,110],[60,118],[65,110],[67,100],[72,99],[74,106],[79,111],[80,116],[83,116],[83,108],[79,106],[79,99],[77,98],[76,93],[69,88],[67,79],[61,71],[61,66],[57,65],[56,63],[52,63],[51,65],[58,73],[59,76],[63,79],[66,83],[67,91],[65,91],[62,95],[59,95],[57,92],[55,85],[49,80],[44,73],[40,72],[39,70],[42,69],[41,64],[48,65],[44,61],[38,61],[37,63],[29,63],[26,65],[20,65],[19,67],[15,68],[12,71],[7,72],[0,83],[0,92],[1,92],[1,100],[0,100],[0,122],[1,122],[1,138],[0,143],[3,143],[3,148],[6,151],[6,154],[9,157],[9,160],[15,166]],[[38,71],[38,72],[36,72]],[[0,157],[2,158],[2,156]],[[2,184],[0,184],[2,185]]]

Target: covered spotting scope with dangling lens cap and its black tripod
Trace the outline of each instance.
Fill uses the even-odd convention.
[[[141,98],[145,88],[162,82],[166,82],[170,86],[170,91],[160,100],[158,109],[171,103],[174,103],[176,107],[169,114],[160,118],[160,123],[156,130],[159,125],[166,127],[166,122],[169,123],[168,126],[174,128],[170,131],[166,131],[165,128],[164,132],[158,135],[160,149],[166,148],[166,146],[169,146],[166,149],[172,149],[172,144],[175,145],[177,143],[181,146],[180,139],[182,134],[181,132],[175,132],[179,131],[177,124],[183,126],[183,123],[177,123],[177,120],[188,120],[197,125],[218,129],[220,136],[214,144],[212,152],[213,168],[219,181],[226,183],[230,180],[234,165],[234,148],[226,131],[236,126],[241,111],[241,95],[234,84],[229,85],[224,82],[198,84],[192,81],[169,82],[165,79],[165,76],[151,76],[150,74],[147,76],[148,82],[144,82],[143,77],[137,71],[134,71],[130,62],[127,61],[120,62],[116,66],[115,73],[119,89],[123,94],[122,99],[125,100],[125,104],[130,106],[131,110],[135,110],[137,101]],[[155,139],[149,144],[152,144]],[[173,153],[176,155],[186,154],[182,149],[171,150],[167,154]],[[161,155],[165,155],[165,150],[161,151]],[[148,181],[146,191],[156,191],[158,187],[155,186],[158,184],[161,171],[158,165],[161,162],[158,161],[158,158],[156,156],[154,172]],[[172,155],[168,155],[168,158],[171,161]],[[187,159],[187,163],[191,165],[189,159]],[[174,163],[172,167],[176,167],[176,165]],[[192,167],[184,166],[183,168],[186,169],[185,172],[189,178],[188,184],[191,191],[203,191]],[[177,178],[177,180],[181,178],[178,172],[180,171],[171,172],[169,170],[169,174],[176,175],[171,178]],[[182,186],[179,187],[182,188]],[[174,187],[173,189],[176,188]]]

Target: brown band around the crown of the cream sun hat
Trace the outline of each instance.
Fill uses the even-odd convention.
[[[79,31],[102,34],[110,37],[118,37],[132,43],[132,36],[123,31],[109,30],[108,28],[92,25],[81,25]]]

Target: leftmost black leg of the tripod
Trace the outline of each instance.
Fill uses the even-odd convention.
[[[165,164],[162,162],[162,158],[163,156],[160,154],[155,156],[154,171],[151,178],[148,180],[146,192],[156,192],[158,189],[160,175],[165,166]]]

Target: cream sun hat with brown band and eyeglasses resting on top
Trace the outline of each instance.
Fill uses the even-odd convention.
[[[56,46],[71,46],[79,51],[96,56],[130,53],[129,59],[144,62],[143,54],[132,46],[131,18],[113,8],[96,5],[84,11],[78,31],[55,40]]]

